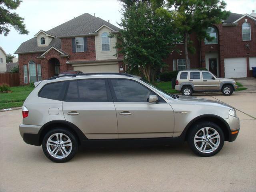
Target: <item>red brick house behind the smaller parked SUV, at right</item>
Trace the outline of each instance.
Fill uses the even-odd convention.
[[[189,54],[191,68],[207,68],[220,77],[251,77],[252,67],[256,66],[256,14],[230,13],[222,24],[208,28],[214,40],[198,41],[190,35],[196,48]],[[177,43],[180,54],[172,52],[165,60],[168,70],[186,69],[183,43]]]

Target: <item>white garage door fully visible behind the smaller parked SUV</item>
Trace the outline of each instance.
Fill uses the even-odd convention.
[[[225,77],[247,77],[246,58],[226,58],[224,59]]]

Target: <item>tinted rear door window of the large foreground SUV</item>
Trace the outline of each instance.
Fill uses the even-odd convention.
[[[70,81],[67,102],[108,102],[104,79]]]

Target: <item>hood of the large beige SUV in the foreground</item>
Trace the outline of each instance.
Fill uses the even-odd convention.
[[[228,108],[234,108],[226,103],[216,101],[216,100],[209,100],[204,98],[197,98],[191,96],[179,96],[179,98],[174,99],[178,103],[182,104],[192,104],[192,105],[206,105],[206,106],[223,106]]]

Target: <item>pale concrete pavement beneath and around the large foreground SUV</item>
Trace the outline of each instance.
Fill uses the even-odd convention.
[[[21,110],[0,113],[0,191],[256,191],[256,93],[200,96],[238,111],[241,130],[216,156],[188,145],[80,150],[67,163],[23,142]],[[247,115],[249,114],[249,115]]]

